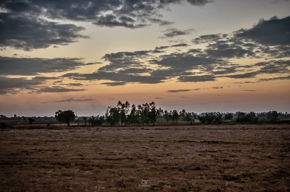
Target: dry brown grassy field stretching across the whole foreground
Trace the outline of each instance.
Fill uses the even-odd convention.
[[[290,125],[6,128],[0,191],[290,191]]]

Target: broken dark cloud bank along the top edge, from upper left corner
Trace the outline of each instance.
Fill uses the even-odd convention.
[[[185,0],[74,0],[74,1],[3,1],[0,8],[14,16],[35,18],[46,17],[58,20],[91,22],[97,26],[138,28],[148,23],[159,25],[172,24],[163,21],[160,11],[170,4],[186,2]],[[187,0],[193,6],[204,6],[211,0]],[[45,36],[44,36],[45,37]]]

